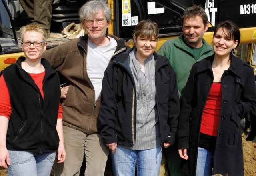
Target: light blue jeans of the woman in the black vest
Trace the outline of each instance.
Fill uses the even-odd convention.
[[[7,176],[49,176],[56,152],[34,154],[26,151],[8,150],[10,166]]]

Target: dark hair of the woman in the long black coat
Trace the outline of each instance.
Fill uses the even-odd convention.
[[[225,34],[226,36],[229,36],[232,40],[234,41],[238,41],[238,44],[236,46],[236,48],[239,46],[240,44],[240,31],[239,28],[236,24],[234,24],[234,22],[230,21],[230,20],[226,20],[224,22],[220,22],[219,24],[217,24],[214,27],[214,33],[213,36],[215,36],[216,32],[222,28],[222,32],[223,34]]]

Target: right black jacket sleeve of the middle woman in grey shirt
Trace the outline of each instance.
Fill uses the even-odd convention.
[[[171,67],[171,66],[170,66]],[[170,70],[170,89],[169,89],[169,100],[168,100],[168,125],[170,126],[170,136],[167,140],[171,145],[175,141],[175,134],[178,126],[178,116],[180,113],[180,100],[177,86],[177,79],[174,70],[171,67]]]

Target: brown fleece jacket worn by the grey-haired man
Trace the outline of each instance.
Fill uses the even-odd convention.
[[[114,55],[127,50],[124,40],[108,35],[117,41]],[[70,40],[43,53],[52,67],[62,74],[70,85],[62,103],[63,124],[87,134],[98,133],[100,96],[95,104],[95,92],[86,71],[88,36]]]

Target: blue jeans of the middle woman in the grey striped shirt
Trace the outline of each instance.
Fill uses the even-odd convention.
[[[132,150],[117,146],[115,154],[111,153],[115,176],[134,176],[135,164],[137,176],[158,176],[162,152],[161,147],[149,150]]]

